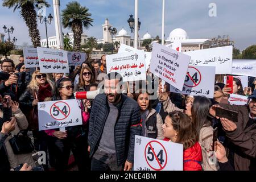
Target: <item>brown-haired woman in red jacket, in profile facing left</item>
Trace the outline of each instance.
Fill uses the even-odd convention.
[[[196,140],[191,119],[181,111],[168,113],[163,125],[165,141],[183,144],[183,170],[201,171],[201,147]]]

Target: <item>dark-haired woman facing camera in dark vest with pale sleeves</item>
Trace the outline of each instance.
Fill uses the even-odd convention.
[[[142,136],[163,139],[163,119],[155,109],[151,108],[149,94],[146,90],[139,90],[135,95],[135,101],[141,109]]]

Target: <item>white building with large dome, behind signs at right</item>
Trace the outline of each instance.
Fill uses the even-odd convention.
[[[166,40],[166,44],[170,44],[175,40],[181,41],[182,52],[210,48],[210,39],[189,39],[187,32],[182,28],[172,30]]]

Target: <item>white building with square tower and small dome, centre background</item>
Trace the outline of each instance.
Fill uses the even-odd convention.
[[[97,40],[98,44],[100,44],[100,43],[104,44],[106,42],[112,43],[112,38],[111,38],[111,34],[109,32],[109,27],[112,27],[112,25],[109,24],[109,20],[107,18],[107,19],[105,19],[105,24],[102,24],[103,39],[98,39]],[[148,35],[146,35],[146,36],[148,37]],[[144,38],[144,36],[143,36],[143,38]],[[126,44],[127,46],[134,47],[134,38],[132,38],[130,35],[128,35],[127,31],[124,28],[122,28],[122,30],[118,31],[117,35],[113,36],[113,43],[114,42],[118,42],[119,46],[121,44]],[[138,49],[142,48],[142,42],[143,42],[143,39],[138,39],[138,42],[137,42]]]

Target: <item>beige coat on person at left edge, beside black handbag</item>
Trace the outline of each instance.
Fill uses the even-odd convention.
[[[13,117],[16,118],[16,126],[15,130],[11,131],[12,135],[16,135],[19,133],[20,130],[26,130],[28,127],[27,118],[22,113],[20,109],[18,109],[15,113],[13,113]],[[19,154],[15,155],[13,153],[13,148],[11,148],[9,139],[11,136],[7,137],[5,140],[5,146],[7,150],[7,155],[9,158],[11,168],[19,166],[19,164],[28,163],[29,166],[35,167],[34,160],[32,159],[32,153],[30,154]]]

